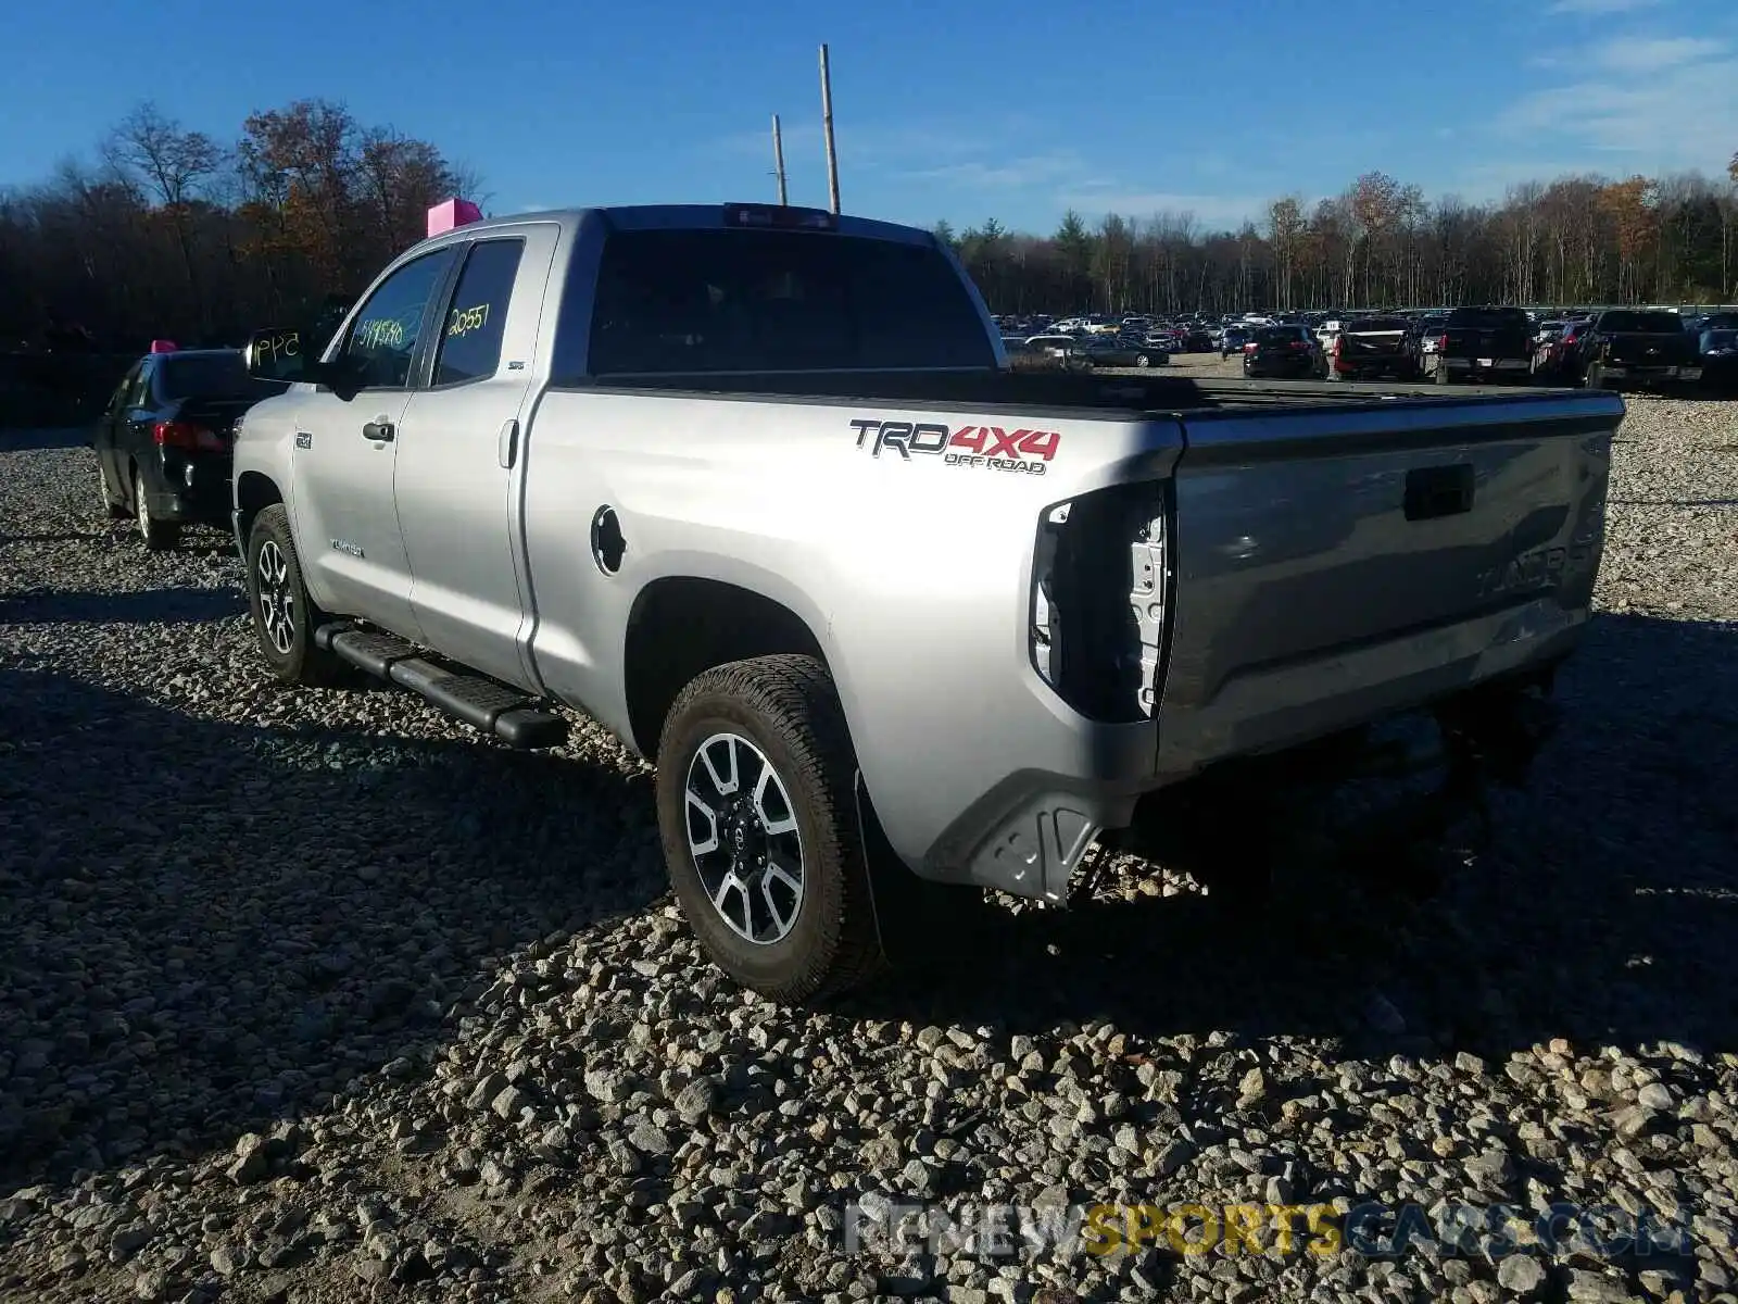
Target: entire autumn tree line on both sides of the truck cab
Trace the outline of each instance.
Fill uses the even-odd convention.
[[[323,99],[254,113],[233,141],[141,104],[92,158],[0,191],[0,351],[238,343],[304,320],[476,184],[434,144]],[[937,233],[1005,313],[1719,303],[1738,299],[1738,155],[1719,181],[1559,177],[1488,205],[1370,172],[1234,231],[1071,212],[1050,236]]]

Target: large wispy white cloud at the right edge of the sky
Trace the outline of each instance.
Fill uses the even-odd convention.
[[[1738,57],[1722,42],[1618,38],[1559,66],[1585,71],[1512,103],[1500,132],[1557,155],[1585,151],[1589,170],[1724,172],[1738,139]]]

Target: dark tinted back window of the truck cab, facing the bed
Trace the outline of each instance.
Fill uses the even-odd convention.
[[[593,376],[994,365],[977,304],[928,245],[806,231],[603,245]]]

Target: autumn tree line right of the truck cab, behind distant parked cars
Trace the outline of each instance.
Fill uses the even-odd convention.
[[[1050,236],[994,219],[937,235],[998,313],[1733,303],[1738,155],[1719,181],[1571,176],[1486,205],[1370,172],[1312,207],[1276,200],[1236,231],[1071,212]]]

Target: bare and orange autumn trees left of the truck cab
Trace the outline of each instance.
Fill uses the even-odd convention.
[[[322,99],[254,113],[233,141],[141,104],[90,160],[0,191],[0,351],[238,343],[355,294],[474,186]]]

